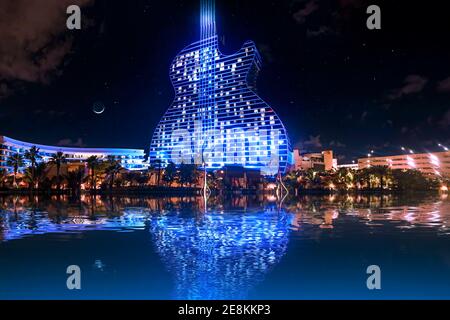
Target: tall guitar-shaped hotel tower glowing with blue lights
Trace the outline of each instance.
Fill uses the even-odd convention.
[[[293,162],[287,131],[256,94],[261,56],[251,41],[235,54],[218,48],[214,3],[201,11],[201,40],[184,48],[170,67],[175,99],[156,127],[150,162],[240,165],[264,175]]]

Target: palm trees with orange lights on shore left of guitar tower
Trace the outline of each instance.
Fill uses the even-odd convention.
[[[13,153],[6,159],[6,166],[11,168],[11,171],[0,168],[0,189],[69,191],[72,194],[80,194],[82,189],[96,192],[97,189],[123,187],[170,187],[175,183],[177,186],[191,187],[199,178],[197,167],[190,164],[177,167],[169,163],[166,168],[162,168],[161,162],[156,161],[155,165],[146,171],[130,171],[125,169],[121,160],[115,156],[90,156],[78,166],[72,164],[70,170],[63,170],[67,163],[68,160],[62,152],[56,152],[48,161],[44,161],[36,146],[23,155]]]

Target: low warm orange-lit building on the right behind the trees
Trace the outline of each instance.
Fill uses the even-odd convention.
[[[392,169],[419,170],[425,174],[450,177],[450,151],[432,153],[410,153],[386,157],[358,159],[358,168],[387,166]]]

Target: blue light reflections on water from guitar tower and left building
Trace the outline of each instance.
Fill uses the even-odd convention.
[[[45,233],[149,228],[161,259],[176,278],[175,296],[183,299],[245,298],[286,252],[291,214],[284,210],[230,212],[198,217],[192,211],[151,215],[127,208],[117,217],[67,217],[29,211],[0,217],[3,240]],[[125,230],[124,230],[125,229]],[[95,260],[93,268],[105,264]]]

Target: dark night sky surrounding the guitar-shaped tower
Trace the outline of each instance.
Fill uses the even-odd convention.
[[[395,3],[395,4],[394,4]],[[450,144],[444,1],[217,0],[223,53],[253,40],[258,93],[293,145],[339,161]],[[66,29],[66,7],[83,29]],[[382,30],[366,28],[378,4]],[[144,148],[174,92],[168,68],[198,40],[199,1],[0,0],[0,135]],[[106,109],[97,115],[92,106]]]

